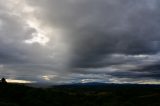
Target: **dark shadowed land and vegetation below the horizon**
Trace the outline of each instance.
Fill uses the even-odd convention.
[[[158,85],[0,85],[0,106],[160,106]]]

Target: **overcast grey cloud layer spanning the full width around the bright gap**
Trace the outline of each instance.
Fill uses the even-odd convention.
[[[15,65],[11,67],[15,72],[24,70],[22,73],[27,74],[35,70],[35,75],[51,72],[65,75],[92,73],[88,69],[93,69],[93,73],[97,70],[98,74],[100,68],[129,64],[138,69],[158,61],[152,58],[160,51],[158,0],[24,1],[34,8],[32,15],[40,21],[40,29],[44,32],[51,29],[52,33],[45,35],[50,41],[44,47],[38,43],[26,44],[24,41],[37,29],[13,15],[7,6],[0,7],[0,63],[8,68]],[[57,29],[60,33],[54,32]],[[115,54],[121,56],[115,57]],[[148,57],[136,57],[139,55]],[[16,68],[16,64],[20,68]],[[22,64],[30,64],[30,67]],[[159,76],[159,73],[146,75],[130,70],[105,71],[113,77]]]

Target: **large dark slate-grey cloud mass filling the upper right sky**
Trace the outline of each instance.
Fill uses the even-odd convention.
[[[159,52],[157,0],[41,0],[30,3],[44,7],[40,17],[47,20],[46,24],[67,30],[63,37],[71,47],[72,67],[101,67],[97,62],[113,53]]]

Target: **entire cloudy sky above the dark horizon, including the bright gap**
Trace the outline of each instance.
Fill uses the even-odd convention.
[[[159,0],[0,0],[0,77],[160,84]]]

